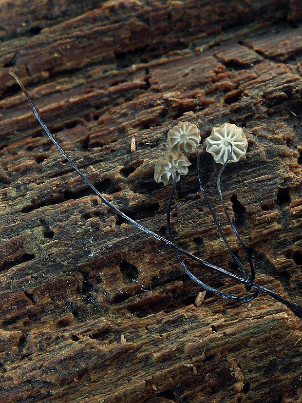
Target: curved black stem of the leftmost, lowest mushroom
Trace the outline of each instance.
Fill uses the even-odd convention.
[[[173,236],[172,236],[172,230],[171,230],[170,211],[171,211],[171,203],[172,203],[173,195],[174,195],[175,188],[176,188],[176,176],[175,175],[174,175],[173,179],[174,179],[173,186],[172,186],[172,190],[170,192],[169,202],[168,202],[168,206],[167,206],[167,226],[168,226],[170,241],[174,243]],[[214,292],[215,294],[218,294],[221,297],[224,297],[224,298],[227,298],[227,299],[241,301],[241,302],[252,301],[254,298],[256,298],[260,294],[260,290],[256,289],[256,291],[249,297],[235,297],[234,295],[227,294],[225,292],[219,291],[216,288],[212,288],[212,287],[208,286],[207,284],[203,283],[201,280],[199,280],[197,277],[195,277],[194,274],[192,274],[190,272],[190,270],[187,268],[187,266],[185,265],[185,263],[183,262],[183,260],[179,256],[179,253],[178,253],[177,249],[174,248],[174,247],[172,247],[172,249],[174,250],[174,253],[175,253],[179,263],[181,264],[181,266],[185,270],[185,272],[188,274],[188,276],[193,281],[195,281],[195,283],[197,283],[202,288],[205,288],[207,291]]]

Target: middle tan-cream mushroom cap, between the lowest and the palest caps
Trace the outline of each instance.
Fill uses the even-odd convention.
[[[180,122],[168,132],[168,147],[189,153],[190,148],[199,146],[200,144],[200,130],[194,123]]]

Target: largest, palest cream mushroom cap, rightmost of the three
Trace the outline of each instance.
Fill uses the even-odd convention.
[[[229,162],[237,162],[246,154],[247,140],[241,127],[234,123],[224,123],[213,127],[211,134],[206,138],[206,151],[213,155],[215,162],[224,164],[233,145],[233,153]]]

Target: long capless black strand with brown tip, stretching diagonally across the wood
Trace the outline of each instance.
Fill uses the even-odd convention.
[[[15,73],[13,72],[9,72],[9,74],[14,77],[17,81],[17,83],[19,84],[19,86],[21,87],[22,91],[24,92],[30,107],[34,113],[34,115],[36,116],[36,118],[38,119],[39,124],[41,125],[41,127],[43,128],[43,130],[45,131],[45,133],[48,135],[48,137],[50,138],[50,140],[55,144],[55,146],[57,147],[57,149],[59,150],[59,152],[67,159],[67,161],[71,164],[71,166],[75,169],[75,171],[78,173],[78,175],[83,179],[83,181],[90,187],[90,189],[102,200],[103,203],[105,203],[108,207],[110,207],[114,212],[120,214],[123,218],[125,218],[125,220],[127,220],[129,223],[131,223],[132,225],[134,225],[136,228],[138,228],[139,230],[142,230],[144,232],[146,232],[148,235],[152,236],[153,238],[157,239],[158,241],[163,242],[165,245],[169,246],[170,248],[172,248],[173,250],[177,250],[177,252],[180,252],[182,254],[184,254],[185,256],[189,257],[190,259],[194,260],[195,262],[201,263],[202,265],[210,268],[210,269],[214,269],[217,270],[223,274],[225,274],[226,276],[233,278],[234,280],[245,284],[245,285],[249,285],[249,281],[246,280],[245,278],[241,278],[239,276],[236,276],[233,273],[230,273],[229,271],[220,268],[218,266],[215,266],[197,256],[192,255],[191,253],[189,253],[187,250],[179,247],[178,245],[175,245],[172,241],[169,241],[168,239],[163,238],[162,236],[156,234],[155,232],[149,230],[148,228],[145,228],[144,226],[142,226],[141,224],[137,223],[136,221],[132,220],[132,218],[128,217],[125,213],[123,213],[122,211],[120,211],[117,207],[115,207],[112,203],[110,203],[100,192],[97,191],[97,189],[94,187],[94,185],[90,182],[90,180],[77,168],[76,164],[74,163],[74,161],[65,153],[65,151],[62,149],[62,147],[57,143],[57,140],[55,139],[55,137],[51,134],[51,132],[49,131],[49,129],[47,128],[46,124],[43,122],[43,120],[40,118],[38,111],[34,105],[34,103],[32,102],[28,92],[26,91],[24,85],[22,84],[22,82],[19,80],[19,77],[16,76]],[[290,308],[297,316],[299,316],[300,318],[302,318],[302,308],[296,306],[295,304],[293,304],[292,302],[286,300],[285,298],[281,297],[279,294],[276,294],[274,291],[271,291],[267,288],[264,288],[262,286],[259,286],[257,284],[253,284],[253,288],[259,290],[259,291],[263,291],[269,295],[271,295],[273,298],[275,298],[277,301],[283,303],[284,305],[286,305],[288,308]]]

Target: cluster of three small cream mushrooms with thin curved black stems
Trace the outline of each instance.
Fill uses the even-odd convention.
[[[190,165],[190,163],[189,163],[188,158],[185,156],[185,153],[189,153],[190,149],[194,148],[196,157],[197,157],[197,174],[198,174],[199,186],[200,186],[200,190],[204,196],[205,202],[208,206],[209,212],[212,215],[214,222],[217,226],[217,229],[220,232],[220,235],[222,236],[222,238],[227,246],[227,249],[229,250],[234,262],[238,265],[239,269],[242,271],[245,281],[248,282],[247,287],[252,288],[253,281],[254,281],[253,263],[252,263],[251,257],[249,255],[240,235],[238,234],[238,231],[236,230],[236,228],[227,212],[227,209],[226,209],[226,206],[225,206],[225,203],[223,200],[223,196],[222,196],[222,193],[220,190],[220,177],[221,177],[221,174],[223,173],[227,163],[229,161],[231,161],[231,162],[238,161],[246,153],[247,141],[246,141],[245,134],[244,134],[242,128],[237,127],[236,125],[234,125],[232,123],[224,123],[221,126],[214,127],[212,129],[210,136],[206,139],[206,144],[207,144],[206,151],[208,151],[210,154],[212,154],[214,156],[214,159],[217,163],[223,164],[223,167],[221,168],[221,170],[218,174],[218,177],[217,177],[217,188],[218,188],[218,192],[219,192],[219,197],[220,197],[221,203],[223,205],[223,208],[225,210],[229,225],[230,225],[231,229],[233,230],[235,236],[241,243],[242,247],[245,250],[245,254],[246,254],[247,260],[250,265],[250,272],[251,272],[250,278],[249,278],[243,264],[238,259],[238,257],[234,254],[230,245],[228,244],[227,238],[223,233],[220,223],[217,220],[216,214],[213,211],[213,209],[209,203],[208,196],[203,187],[202,177],[201,177],[201,168],[200,168],[200,157],[199,157],[199,152],[197,149],[197,146],[199,145],[200,140],[201,140],[200,131],[195,124],[190,123],[190,122],[178,123],[176,126],[174,126],[172,129],[170,129],[168,132],[167,143],[171,150],[165,151],[164,154],[162,154],[158,158],[158,161],[155,164],[154,178],[155,178],[156,182],[163,182],[163,184],[165,186],[168,184],[173,185],[171,193],[170,193],[168,207],[167,207],[167,226],[168,226],[168,230],[169,230],[170,241],[174,242],[173,238],[172,238],[172,231],[171,231],[171,224],[170,224],[170,208],[171,208],[172,197],[173,197],[173,194],[175,191],[176,182],[179,181],[181,175],[185,175],[188,173],[188,166]],[[219,295],[222,295],[226,298],[243,300],[241,298],[233,297],[231,295],[222,293],[219,290],[208,287],[204,283],[199,282],[199,280],[196,279],[195,277],[193,278],[191,273],[189,272],[187,266],[184,264],[183,260],[181,259],[179,253],[176,251],[176,249],[174,249],[174,252],[176,254],[178,261],[180,262],[182,267],[185,269],[185,271],[190,275],[190,277],[194,281],[196,281],[202,287],[204,287],[208,290],[211,290],[213,292],[216,292]],[[244,300],[246,300],[246,299],[244,299]]]

